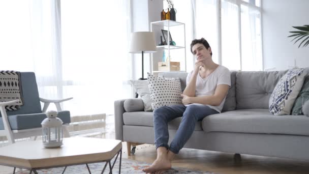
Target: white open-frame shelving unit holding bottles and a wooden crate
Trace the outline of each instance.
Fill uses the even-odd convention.
[[[150,31],[151,32],[154,32],[154,26],[158,26],[158,27],[167,27],[167,33],[169,35],[170,33],[170,27],[173,27],[173,26],[179,26],[179,25],[183,25],[183,45],[161,45],[161,46],[157,46],[157,49],[165,49],[167,50],[167,57],[170,57],[170,50],[172,49],[184,49],[184,71],[187,71],[187,57],[186,57],[186,24],[184,23],[181,23],[181,22],[176,22],[176,21],[173,21],[173,20],[161,20],[161,21],[155,21],[155,22],[151,22],[150,23]],[[161,28],[161,29],[162,29]],[[161,30],[160,30],[161,32]],[[156,35],[155,33],[155,36],[156,37],[160,37],[161,35],[158,36],[158,34]],[[167,43],[170,43],[170,37],[168,36],[167,37]],[[177,43],[176,43],[177,44]],[[152,53],[152,56],[151,56],[151,73],[158,73],[158,72],[166,72],[166,71],[153,71],[153,54]],[[171,66],[170,66],[170,59],[169,59],[169,63],[168,63],[168,66],[169,66],[169,71],[171,71]],[[183,65],[180,64],[180,67],[182,67]],[[181,69],[180,69],[181,70]],[[168,70],[167,70],[168,71]],[[182,70],[183,71],[183,70]]]

